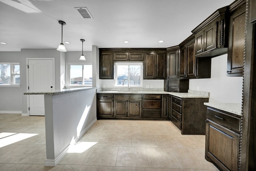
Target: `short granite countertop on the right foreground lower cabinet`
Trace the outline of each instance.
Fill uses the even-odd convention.
[[[242,104],[241,103],[204,103],[209,107],[214,107],[223,111],[234,113],[236,115],[242,115]]]

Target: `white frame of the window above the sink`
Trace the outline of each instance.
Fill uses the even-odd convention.
[[[118,75],[117,75],[117,66],[118,65],[134,65],[134,64],[139,64],[140,66],[140,85],[131,85],[129,84],[130,87],[143,87],[142,85],[142,80],[143,80],[143,62],[114,62],[114,80],[115,80],[115,87],[127,87],[127,85],[118,85]],[[130,83],[130,76],[128,76],[128,80]]]

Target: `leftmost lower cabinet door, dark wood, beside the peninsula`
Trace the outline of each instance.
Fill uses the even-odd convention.
[[[98,100],[97,114],[98,117],[113,117],[114,102],[113,100]]]

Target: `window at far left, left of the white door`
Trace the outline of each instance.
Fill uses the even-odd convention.
[[[19,63],[0,63],[0,85],[20,85]]]

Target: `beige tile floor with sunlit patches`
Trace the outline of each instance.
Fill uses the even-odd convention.
[[[45,167],[44,117],[0,114],[0,171],[218,170],[204,159],[204,142],[170,121],[98,120],[56,167]]]

